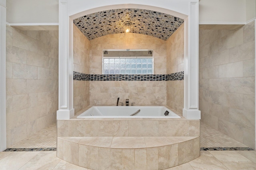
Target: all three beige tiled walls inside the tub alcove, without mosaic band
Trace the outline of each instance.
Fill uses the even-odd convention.
[[[184,40],[184,24],[167,40],[161,40],[143,34],[110,34],[88,40],[74,26],[74,109],[75,113],[88,105],[113,105],[116,98],[130,99],[136,105],[170,105],[182,111],[184,81],[184,59],[181,57]],[[172,38],[175,37],[175,38]],[[178,45],[174,45],[178,42]],[[172,44],[172,48],[170,48]],[[150,78],[128,75],[102,75],[102,50],[104,49],[154,49],[154,74],[164,77]],[[171,53],[174,50],[176,52]],[[170,57],[172,55],[172,57]],[[89,56],[89,58],[88,58]],[[171,60],[175,65],[170,64]],[[167,61],[167,62],[166,62]],[[183,65],[183,66],[182,66]],[[89,71],[88,71],[89,69]],[[154,75],[154,76],[155,76]],[[166,76],[166,77],[165,77]],[[182,83],[170,83],[154,80],[180,80]],[[89,80],[83,81],[80,80]],[[130,81],[119,81],[130,80]],[[146,82],[144,80],[149,80]],[[98,81],[98,80],[118,80]],[[134,81],[137,80],[137,81]],[[138,80],[143,80],[139,82]],[[153,80],[153,81],[151,81]],[[177,85],[179,87],[177,87]],[[178,93],[174,92],[177,91]],[[124,102],[124,101],[120,101]],[[176,102],[179,102],[178,104]]]

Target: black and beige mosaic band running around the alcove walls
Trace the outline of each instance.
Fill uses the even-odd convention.
[[[184,71],[172,74],[85,74],[74,71],[78,81],[179,81],[184,80]]]

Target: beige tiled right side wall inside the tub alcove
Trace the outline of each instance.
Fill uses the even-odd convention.
[[[184,24],[166,41],[167,74],[184,71]],[[167,105],[182,113],[184,81],[167,81]]]

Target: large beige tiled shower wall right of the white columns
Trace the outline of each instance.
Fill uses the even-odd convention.
[[[199,30],[202,121],[255,148],[254,22],[237,30]]]

